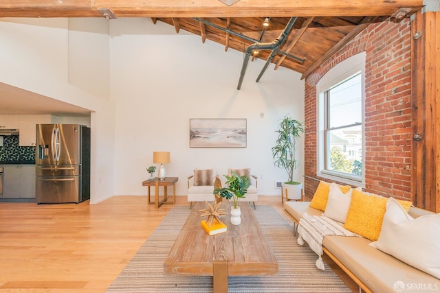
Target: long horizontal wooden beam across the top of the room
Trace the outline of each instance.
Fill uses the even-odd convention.
[[[0,17],[100,17],[98,8],[116,17],[391,16],[399,8],[422,7],[423,0],[247,0],[230,6],[219,0],[2,0]]]

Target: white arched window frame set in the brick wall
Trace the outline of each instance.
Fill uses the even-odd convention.
[[[337,181],[339,183],[360,187],[365,187],[365,58],[365,52],[347,58],[330,69],[316,85],[316,97],[318,99],[316,113],[316,125],[318,128],[316,136],[316,175],[332,181]],[[325,95],[329,89],[332,89],[338,84],[349,80],[358,73],[361,74],[362,88],[362,176],[345,174],[325,169],[327,162],[327,131],[325,129],[325,114],[329,115],[329,113],[325,113],[325,111],[328,110],[327,98]]]

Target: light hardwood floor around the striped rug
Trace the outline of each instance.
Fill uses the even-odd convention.
[[[281,198],[259,196],[258,204],[272,204],[293,224]],[[186,196],[177,196],[176,205],[188,205]],[[173,207],[155,209],[146,196],[99,204],[1,202],[0,292],[104,292]]]

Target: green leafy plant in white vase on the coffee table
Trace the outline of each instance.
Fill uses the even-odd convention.
[[[231,207],[231,224],[239,225],[241,223],[241,211],[237,206],[240,198],[244,198],[250,186],[248,176],[238,176],[236,172],[232,172],[232,176],[225,175],[226,186],[214,189],[214,194],[219,194],[222,198],[230,200],[232,198],[233,206]]]

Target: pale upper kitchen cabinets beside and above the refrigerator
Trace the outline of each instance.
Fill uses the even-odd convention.
[[[63,123],[56,115],[20,115],[20,146],[35,146],[36,124]]]

